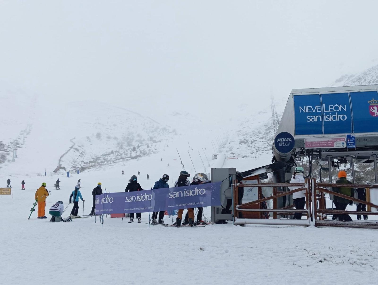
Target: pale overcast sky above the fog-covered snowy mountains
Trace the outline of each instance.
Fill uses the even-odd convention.
[[[52,101],[225,116],[376,64],[376,11],[345,0],[0,0],[0,78]]]

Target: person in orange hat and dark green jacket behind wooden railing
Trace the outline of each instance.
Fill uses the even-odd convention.
[[[337,176],[339,179],[336,181],[336,184],[352,184],[352,182],[347,180],[347,172],[345,172],[344,170],[339,171]],[[333,192],[344,194],[350,197],[354,197],[354,189],[352,187],[333,187]],[[353,205],[352,200],[341,198],[336,195],[333,196],[333,202],[335,203],[336,210],[339,210],[339,211],[345,211],[345,208],[347,207],[348,204]],[[333,215],[332,219],[344,221],[344,222],[353,221],[352,218],[350,218],[350,216],[347,214]]]

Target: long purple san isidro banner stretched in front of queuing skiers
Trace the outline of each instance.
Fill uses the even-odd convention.
[[[96,196],[96,215],[144,213],[220,205],[221,182]]]

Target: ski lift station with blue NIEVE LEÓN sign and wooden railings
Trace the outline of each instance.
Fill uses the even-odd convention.
[[[366,204],[368,212],[372,213],[369,215],[377,214],[378,189],[373,183],[378,183],[378,85],[293,89],[272,144],[271,164],[242,172],[244,188],[256,189],[255,201],[238,205],[237,193],[240,185],[235,182],[236,169],[211,170],[212,181],[223,181],[220,190],[223,204],[221,207],[213,207],[213,222],[231,219],[235,224],[353,226],[353,222],[327,220],[327,214],[335,214],[335,210],[332,203],[331,208],[327,209],[325,206],[325,194],[329,194],[330,200],[333,200],[334,196],[339,196],[332,193],[332,187],[335,187],[333,183],[337,180],[336,177],[332,177],[332,168],[337,168],[341,163],[350,164],[353,187],[366,188],[370,193],[366,203],[354,198],[350,200]],[[309,169],[305,172],[306,183],[297,186],[301,186],[302,190],[306,189],[307,207],[302,213],[307,216],[307,220],[288,220],[289,214],[301,211],[293,209],[293,191],[290,191],[288,186],[294,186],[289,184],[293,169],[303,158],[308,159]],[[320,181],[312,178],[315,163],[321,166]],[[355,184],[355,164],[362,163],[373,166],[374,175],[371,177],[370,185]],[[261,183],[262,179],[267,178],[268,173],[272,173],[273,183]],[[329,179],[327,185],[322,183],[322,173],[323,177],[327,176]],[[227,177],[231,179],[228,180]],[[263,197],[264,187],[273,189],[273,196]],[[269,199],[273,200],[272,209],[265,208],[265,202]],[[227,213],[225,209],[230,200],[233,209]],[[273,213],[273,219],[266,215],[268,212]],[[353,214],[352,211],[342,212]],[[242,213],[243,218],[238,217],[239,213]],[[262,220],[266,218],[268,219]],[[283,219],[277,221],[277,218]],[[358,224],[355,226],[364,224],[364,227],[369,227],[370,224],[370,227],[376,227],[376,223]]]

